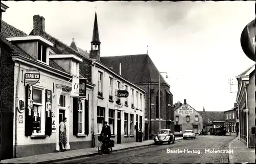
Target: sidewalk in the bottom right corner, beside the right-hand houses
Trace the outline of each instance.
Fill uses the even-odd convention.
[[[239,137],[233,139],[229,145],[228,149],[233,150],[233,153],[228,154],[228,159],[230,163],[254,163],[255,162],[255,149],[247,148],[240,140]]]

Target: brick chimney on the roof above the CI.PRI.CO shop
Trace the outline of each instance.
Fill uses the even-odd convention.
[[[45,18],[40,15],[33,16],[34,35],[42,35],[45,32]]]

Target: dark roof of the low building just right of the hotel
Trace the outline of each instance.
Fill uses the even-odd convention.
[[[203,119],[203,125],[211,125],[208,121],[225,121],[223,111],[198,111]]]

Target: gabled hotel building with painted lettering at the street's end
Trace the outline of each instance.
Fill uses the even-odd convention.
[[[203,119],[201,114],[187,104],[186,99],[184,103],[175,109],[175,132],[184,133],[185,130],[193,130],[194,133],[198,134],[203,129]]]

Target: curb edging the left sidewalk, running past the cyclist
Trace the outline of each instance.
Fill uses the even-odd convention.
[[[178,140],[182,140],[183,138],[181,139],[178,139]],[[178,141],[178,140],[175,140],[175,141]],[[135,149],[135,148],[143,148],[143,147],[148,147],[148,146],[151,146],[151,145],[155,145],[155,143],[152,143],[152,144],[148,144],[148,145],[140,145],[140,146],[135,146],[135,147],[129,147],[129,148],[121,148],[121,149],[117,149],[117,150],[112,150],[112,152],[117,152],[117,151],[123,151],[123,150],[129,150],[129,149]],[[94,155],[98,155],[99,153],[98,152],[95,152],[95,153],[91,153],[91,154],[83,154],[83,155],[77,155],[77,156],[71,156],[71,157],[65,157],[65,158],[58,158],[58,159],[52,159],[52,160],[45,160],[45,161],[39,161],[39,162],[32,162],[32,164],[35,164],[35,163],[55,163],[55,162],[60,162],[60,161],[65,161],[65,160],[71,160],[71,159],[76,159],[76,158],[83,158],[83,157],[90,157],[90,156],[94,156]]]

